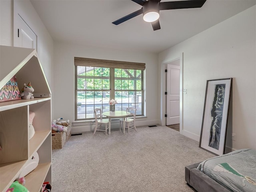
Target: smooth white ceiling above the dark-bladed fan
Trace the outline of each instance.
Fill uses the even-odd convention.
[[[142,6],[131,0],[30,0],[54,41],[159,53],[254,6],[256,0],[206,0],[202,8],[161,10],[160,30],[142,14],[113,21]],[[173,0],[162,0],[167,2]]]

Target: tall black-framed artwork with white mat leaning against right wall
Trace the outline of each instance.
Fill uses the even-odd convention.
[[[224,154],[232,78],[207,80],[199,147]]]

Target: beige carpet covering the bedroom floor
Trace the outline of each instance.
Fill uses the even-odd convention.
[[[213,156],[166,126],[83,132],[52,150],[52,191],[193,192],[184,167]]]

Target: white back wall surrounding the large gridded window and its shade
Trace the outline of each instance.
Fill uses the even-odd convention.
[[[158,56],[140,52],[127,52],[116,49],[97,48],[92,46],[72,45],[54,42],[54,96],[52,107],[53,118],[64,118],[74,122],[74,57],[96,58],[105,60],[130,61],[146,63],[146,116],[138,120],[136,124],[156,124],[158,115]],[[138,119],[138,118],[136,118]],[[73,126],[72,132],[90,131],[95,124]],[[112,128],[119,127],[118,123],[112,122]]]

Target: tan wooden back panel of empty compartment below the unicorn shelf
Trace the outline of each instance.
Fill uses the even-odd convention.
[[[1,111],[0,132],[0,164],[27,160],[28,106]]]

